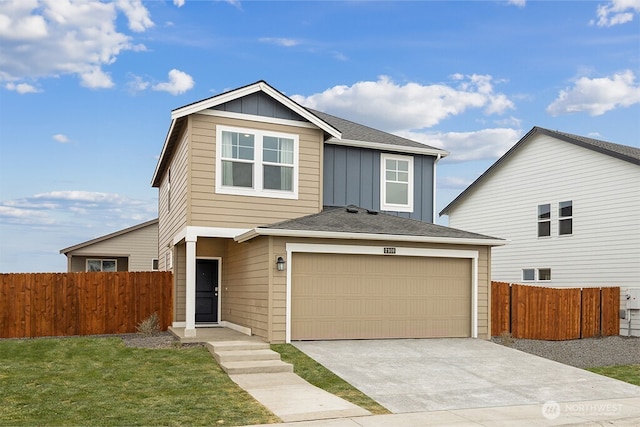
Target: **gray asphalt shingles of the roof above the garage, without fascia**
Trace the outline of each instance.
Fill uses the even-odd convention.
[[[340,233],[387,234],[457,239],[499,240],[442,225],[403,218],[357,206],[325,207],[320,213],[258,228],[277,230],[326,231]]]

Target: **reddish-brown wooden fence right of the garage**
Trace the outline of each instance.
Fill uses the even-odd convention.
[[[620,288],[543,288],[491,282],[491,335],[571,340],[618,335]]]

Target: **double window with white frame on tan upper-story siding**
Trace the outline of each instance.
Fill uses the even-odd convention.
[[[298,136],[218,126],[216,192],[298,197]]]

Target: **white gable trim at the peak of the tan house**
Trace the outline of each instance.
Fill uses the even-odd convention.
[[[296,112],[297,114],[301,115],[305,119],[309,120],[311,123],[313,123],[320,129],[322,129],[323,131],[327,132],[331,136],[335,138],[342,137],[342,134],[340,133],[339,130],[329,125],[324,120],[321,120],[319,117],[315,116],[314,114],[311,114],[305,108],[303,108],[302,106],[300,106],[299,104],[291,100],[289,97],[282,95],[280,92],[278,92],[277,90],[275,90],[265,82],[257,82],[252,85],[233,90],[231,92],[223,93],[221,95],[214,96],[212,98],[208,98],[200,102],[187,105],[182,108],[178,108],[171,112],[171,118],[175,120],[180,117],[188,116],[190,114],[199,113],[202,110],[206,110],[206,109],[215,107],[217,105],[221,105],[226,102],[233,101],[238,98],[242,98],[243,96],[251,95],[252,93],[256,93],[256,92],[266,93],[267,95],[274,98],[276,101],[280,102],[290,110]]]

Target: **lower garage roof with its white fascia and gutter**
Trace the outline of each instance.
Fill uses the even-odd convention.
[[[320,213],[257,227],[236,237],[239,242],[257,236],[329,239],[399,240],[498,246],[505,240],[457,230],[415,219],[371,211],[357,206],[325,207]]]

